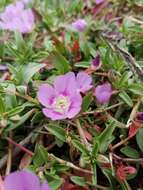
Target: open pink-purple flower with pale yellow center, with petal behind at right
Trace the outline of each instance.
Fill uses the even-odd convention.
[[[86,92],[91,86],[91,78],[81,72],[69,72],[56,77],[53,86],[43,84],[38,90],[38,100],[45,106],[43,113],[52,120],[61,120],[75,117],[82,104],[80,92]]]

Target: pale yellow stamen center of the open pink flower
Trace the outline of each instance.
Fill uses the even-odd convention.
[[[53,107],[56,112],[65,113],[70,106],[69,98],[63,95],[57,97],[53,102]]]

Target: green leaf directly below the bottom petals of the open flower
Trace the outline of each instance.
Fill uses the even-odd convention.
[[[51,134],[56,136],[58,139],[61,141],[65,142],[66,141],[66,132],[65,130],[60,127],[58,124],[53,124],[50,123],[45,127]]]

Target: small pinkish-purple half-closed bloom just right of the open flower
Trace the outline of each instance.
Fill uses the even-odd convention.
[[[100,104],[108,103],[112,95],[111,84],[106,82],[102,85],[98,85],[95,89],[94,95]]]

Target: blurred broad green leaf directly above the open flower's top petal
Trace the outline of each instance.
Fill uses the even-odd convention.
[[[70,71],[70,63],[62,54],[60,54],[58,51],[53,51],[51,56],[52,62],[60,74],[65,74]]]

